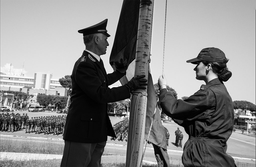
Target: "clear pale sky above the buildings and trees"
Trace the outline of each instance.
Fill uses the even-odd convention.
[[[109,56],[122,2],[0,0],[1,72],[23,71],[31,77],[51,73],[53,78],[71,75],[85,49],[77,31],[107,18],[110,45],[101,58],[107,73],[112,73]],[[255,9],[255,0],[167,1],[164,74],[179,99],[205,84],[195,79],[195,65],[186,61],[197,57],[203,48],[217,47],[229,59],[232,77],[224,84],[232,100],[256,103]],[[150,68],[153,83],[157,83],[163,70],[165,0],[155,0],[153,11]]]

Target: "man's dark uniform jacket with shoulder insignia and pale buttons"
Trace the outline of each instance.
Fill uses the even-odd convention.
[[[130,98],[125,86],[108,88],[124,73],[106,74],[105,68],[91,54],[84,51],[76,61],[72,75],[71,104],[66,118],[64,140],[98,143],[115,137],[107,113],[107,103]],[[97,133],[96,133],[97,132]]]

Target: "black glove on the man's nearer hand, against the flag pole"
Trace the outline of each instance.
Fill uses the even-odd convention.
[[[125,84],[125,86],[127,88],[129,88],[130,91],[134,91],[136,89],[146,89],[146,86],[147,83],[147,80],[146,79],[141,79],[141,78],[144,78],[145,75],[140,75],[140,76],[137,76],[136,78],[132,78],[129,82],[127,82],[127,84]]]

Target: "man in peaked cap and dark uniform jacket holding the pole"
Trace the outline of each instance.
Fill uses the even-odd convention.
[[[109,46],[108,19],[81,29],[86,49],[76,61],[72,74],[71,104],[66,118],[63,139],[65,147],[61,166],[100,166],[107,136],[116,138],[107,113],[107,103],[130,98],[130,92],[146,89],[145,75],[126,85],[109,88],[125,73],[107,74],[101,59]],[[98,133],[95,133],[98,132]]]

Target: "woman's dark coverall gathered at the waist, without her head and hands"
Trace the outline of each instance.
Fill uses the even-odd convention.
[[[234,159],[226,154],[234,109],[223,82],[213,79],[184,101],[162,89],[159,102],[163,112],[189,135],[182,156],[184,166],[234,166]]]

